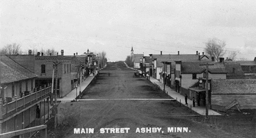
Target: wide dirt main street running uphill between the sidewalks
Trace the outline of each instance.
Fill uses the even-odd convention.
[[[172,101],[146,78],[133,78],[133,72],[123,62],[109,63],[83,92],[85,101],[59,104],[59,128],[49,137],[242,137],[195,121],[199,118],[195,112]],[[171,127],[188,128],[188,132],[168,132]],[[76,132],[80,134],[74,134],[74,128],[80,128]],[[86,128],[94,133],[84,134]],[[110,133],[108,128],[118,129]],[[130,130],[120,133],[120,128]],[[148,133],[142,133],[142,128],[148,128]]]

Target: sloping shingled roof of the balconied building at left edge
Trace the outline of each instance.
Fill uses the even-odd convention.
[[[8,58],[6,55],[1,55],[0,64],[2,71],[1,83],[3,84],[38,77],[27,68]]]

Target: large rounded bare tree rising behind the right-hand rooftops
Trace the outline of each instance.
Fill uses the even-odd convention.
[[[219,58],[225,54],[225,41],[213,38],[208,40],[208,42],[205,43],[205,46],[205,53],[214,57],[217,61],[219,61]]]

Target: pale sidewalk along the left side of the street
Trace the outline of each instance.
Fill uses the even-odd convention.
[[[84,91],[84,89],[91,83],[92,79],[94,79],[95,76],[92,76],[92,74],[90,74],[90,76],[88,76],[81,85],[81,92]],[[71,92],[69,92],[65,97],[63,98],[57,98],[57,101],[61,101],[63,102],[67,102],[67,101],[73,101],[77,96],[79,96],[79,90],[80,90],[80,85],[78,85],[77,90],[73,89]]]

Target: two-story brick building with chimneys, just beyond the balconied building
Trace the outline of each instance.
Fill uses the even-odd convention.
[[[61,55],[44,55],[38,52],[37,55],[32,55],[31,50],[27,55],[7,55],[9,58],[26,67],[31,72],[37,74],[35,86],[37,90],[40,86],[52,83],[54,62],[59,62],[57,65],[57,96],[62,98],[72,90],[72,75],[71,75],[71,57],[64,56],[64,51],[61,50]],[[54,81],[55,85],[55,81]],[[55,87],[54,87],[55,88]]]

